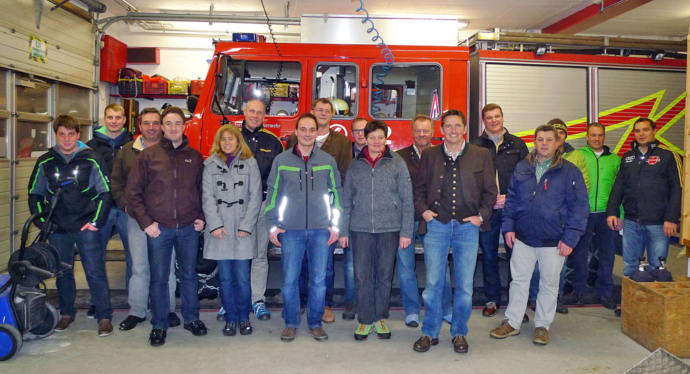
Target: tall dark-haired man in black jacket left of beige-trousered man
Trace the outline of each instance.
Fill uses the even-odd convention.
[[[482,248],[482,275],[484,276],[484,295],[487,303],[482,315],[493,317],[501,307],[501,275],[498,268],[498,241],[501,235],[503,205],[506,201],[506,190],[513,176],[513,170],[520,160],[527,156],[524,141],[511,135],[503,126],[503,110],[497,104],[487,104],[482,108],[484,132],[474,139],[472,144],[488,149],[496,169],[498,196],[491,215],[491,230],[479,234],[479,245]],[[505,242],[505,240],[504,240]],[[506,246],[506,257],[510,264],[512,248]],[[510,269],[508,270],[510,275]],[[510,281],[509,281],[510,283]],[[526,318],[527,315],[524,315]]]

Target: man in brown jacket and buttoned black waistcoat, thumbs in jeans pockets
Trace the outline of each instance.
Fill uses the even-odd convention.
[[[465,117],[451,109],[441,117],[445,140],[422,153],[414,184],[415,213],[424,237],[424,322],[422,337],[413,349],[426,352],[438,344],[442,323],[441,295],[446,282],[448,252],[453,246],[453,321],[451,336],[457,353],[468,351],[467,321],[472,311],[472,291],[479,231],[490,230],[489,219],[496,204],[495,171],[486,148],[464,140]]]

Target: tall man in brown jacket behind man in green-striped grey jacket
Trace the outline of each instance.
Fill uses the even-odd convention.
[[[315,147],[333,156],[335,164],[337,164],[338,170],[340,171],[341,186],[343,186],[345,184],[347,169],[350,166],[350,161],[352,161],[352,144],[350,139],[331,129],[333,104],[331,104],[331,101],[328,99],[322,97],[314,100],[311,104],[311,114],[315,115],[318,125]],[[285,149],[290,149],[295,146],[295,144],[297,144],[297,136],[295,134],[290,135]],[[335,250],[335,245],[336,243],[331,245],[331,253]],[[306,308],[308,295],[307,269],[308,259],[304,256],[304,260],[302,260],[302,273],[299,275],[299,299],[300,302],[302,302],[302,308]],[[335,317],[331,311],[335,274],[333,269],[333,255],[331,255],[330,259],[328,259],[328,268],[326,269],[326,309],[323,317],[323,322],[327,324],[335,322]]]

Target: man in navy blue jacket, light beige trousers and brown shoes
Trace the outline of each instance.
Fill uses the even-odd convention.
[[[502,230],[513,248],[506,320],[491,331],[497,338],[520,333],[535,262],[540,280],[534,316],[535,344],[549,342],[564,259],[578,244],[589,216],[589,196],[582,172],[558,152],[552,125],[534,130],[533,150],[515,167],[506,193]]]

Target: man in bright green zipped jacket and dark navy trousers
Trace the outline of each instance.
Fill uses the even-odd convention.
[[[598,271],[595,288],[600,302],[607,309],[615,309],[613,295],[613,261],[615,259],[615,235],[607,225],[606,206],[609,202],[609,193],[620,166],[620,157],[611,153],[609,147],[604,146],[606,132],[604,126],[598,122],[587,125],[587,146],[580,149],[587,163],[589,180],[592,186],[589,189],[590,214],[587,219],[587,228],[580,242],[573,250],[573,288],[575,288],[576,304],[584,305],[584,295],[587,293],[587,275],[589,268],[587,259],[589,250],[597,254]],[[616,230],[623,228],[623,220],[617,219]],[[592,236],[594,235],[594,236]]]

